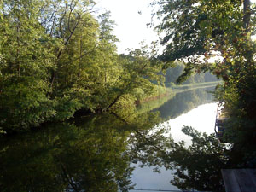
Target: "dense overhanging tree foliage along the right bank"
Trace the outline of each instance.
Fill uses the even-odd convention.
[[[186,63],[178,82],[206,71],[223,79],[216,96],[224,101],[230,117],[226,137],[240,148],[244,161],[252,162],[242,151],[252,153],[256,141],[255,5],[250,0],[159,0],[153,4],[161,20],[156,29],[164,32],[161,43],[166,45],[160,59],[166,67],[173,61]]]

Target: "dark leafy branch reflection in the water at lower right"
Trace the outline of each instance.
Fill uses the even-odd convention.
[[[224,191],[220,170],[228,163],[229,146],[218,143],[215,136],[200,133],[191,127],[183,127],[183,132],[192,137],[192,144],[174,142],[172,137],[163,137],[156,132],[152,143],[132,138],[133,160],[140,166],[161,166],[172,170],[172,185],[178,189],[196,189],[199,191]],[[148,136],[149,137],[149,136]],[[143,147],[142,147],[143,146]],[[159,146],[160,150],[155,150]]]

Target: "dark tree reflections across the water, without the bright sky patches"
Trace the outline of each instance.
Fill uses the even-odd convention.
[[[209,98],[193,90],[178,93],[154,110],[160,113],[106,113],[2,137],[0,191],[129,191],[131,165],[137,162],[176,170],[172,184],[179,189],[209,189],[201,187],[202,182],[220,189],[218,168],[223,165],[224,148],[218,148],[214,137],[187,131],[198,143],[187,150],[166,137],[164,128],[154,130],[160,116],[176,117]]]

